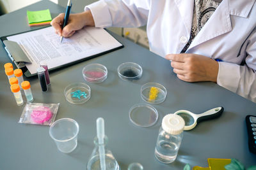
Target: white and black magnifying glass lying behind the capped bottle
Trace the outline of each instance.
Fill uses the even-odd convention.
[[[174,114],[179,115],[185,121],[184,131],[189,131],[193,129],[196,124],[202,120],[207,120],[211,118],[220,117],[223,112],[223,107],[213,108],[211,110],[205,111],[201,114],[195,114],[188,110],[178,110]]]

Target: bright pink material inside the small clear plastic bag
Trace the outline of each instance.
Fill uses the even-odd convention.
[[[30,115],[33,122],[37,124],[44,124],[52,118],[52,112],[50,108],[46,106],[38,106]]]

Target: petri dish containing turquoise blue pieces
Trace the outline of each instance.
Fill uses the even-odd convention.
[[[64,90],[66,100],[72,104],[83,104],[91,97],[91,88],[85,83],[72,83]]]

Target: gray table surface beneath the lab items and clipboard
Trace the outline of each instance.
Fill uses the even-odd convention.
[[[0,36],[29,31],[26,10],[49,8],[52,18],[65,8],[50,1],[40,1],[21,10],[0,17]],[[113,34],[113,33],[111,33]],[[49,127],[43,125],[18,124],[24,108],[17,106],[4,64],[10,62],[0,46],[0,169],[85,169],[93,150],[96,135],[96,119],[105,120],[108,148],[113,152],[121,169],[132,162],[140,162],[145,169],[182,169],[185,164],[207,166],[207,158],[240,160],[246,167],[256,164],[256,155],[248,150],[248,139],[244,118],[256,114],[256,104],[229,92],[215,83],[187,83],[173,73],[170,62],[149,52],[116,34],[125,47],[95,59],[80,62],[50,73],[51,89],[42,92],[38,78],[29,78],[35,103],[60,103],[56,120],[73,118],[80,126],[78,145],[74,152],[65,154],[57,150],[49,136]],[[143,68],[140,80],[120,80],[116,69],[123,62],[136,62]],[[100,63],[108,68],[108,78],[98,84],[83,80],[81,71],[91,63]],[[152,104],[159,112],[157,123],[148,128],[136,127],[129,120],[129,108],[145,103],[140,97],[140,87],[147,82],[158,82],[166,87],[168,94],[161,104]],[[65,100],[63,90],[73,82],[90,85],[92,97],[81,105]],[[24,96],[23,96],[24,97]],[[25,98],[24,98],[25,99]],[[157,134],[161,120],[167,113],[189,110],[202,113],[210,108],[223,106],[220,118],[201,122],[192,131],[184,132],[177,160],[162,164],[154,157]]]

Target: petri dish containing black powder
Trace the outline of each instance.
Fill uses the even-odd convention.
[[[135,62],[124,62],[118,66],[117,72],[122,80],[135,81],[141,78],[142,68]]]

